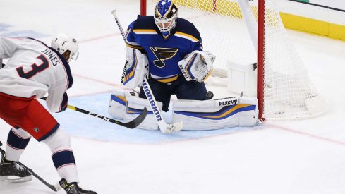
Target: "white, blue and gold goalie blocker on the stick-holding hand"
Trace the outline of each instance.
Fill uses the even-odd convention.
[[[145,54],[138,49],[126,47],[127,69],[123,78],[123,85],[135,88],[141,86],[145,75],[149,72],[149,61]]]

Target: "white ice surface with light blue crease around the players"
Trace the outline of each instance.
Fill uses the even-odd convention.
[[[107,116],[109,92],[119,83],[123,28],[139,13],[138,0],[1,0],[0,36],[56,32],[80,40],[71,62],[70,104]],[[80,186],[101,194],[345,193],[345,42],[289,31],[310,78],[329,105],[327,114],[300,121],[270,121],[222,131],[126,129],[76,111],[54,114],[72,135]],[[0,121],[0,140],[8,126]],[[4,148],[4,146],[2,146]],[[49,148],[31,140],[20,161],[49,183],[59,181]],[[54,193],[37,179],[0,182],[1,194]],[[59,193],[63,193],[60,191]]]

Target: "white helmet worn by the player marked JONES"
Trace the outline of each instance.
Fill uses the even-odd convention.
[[[71,59],[73,59],[74,61],[78,59],[78,42],[74,37],[71,37],[70,35],[59,34],[53,37],[52,48],[58,51],[61,55],[66,51],[71,51],[68,62],[71,61]]]

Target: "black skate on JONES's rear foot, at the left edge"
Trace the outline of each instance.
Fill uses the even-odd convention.
[[[29,169],[17,164],[17,162],[5,159],[4,154],[0,162],[0,180],[21,183],[32,180]]]

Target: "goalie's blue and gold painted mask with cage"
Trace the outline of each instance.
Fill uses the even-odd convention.
[[[155,7],[155,23],[164,37],[176,26],[177,7],[170,0],[160,0]]]

